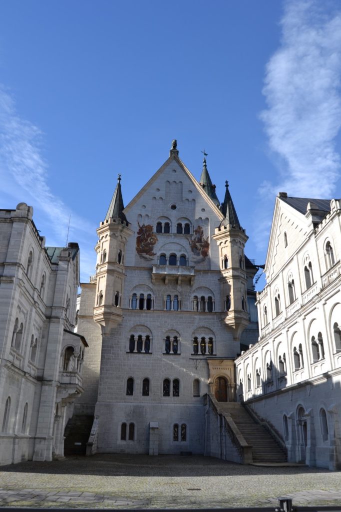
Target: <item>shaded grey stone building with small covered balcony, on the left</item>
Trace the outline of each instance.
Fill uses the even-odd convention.
[[[0,210],[0,464],[62,456],[82,392],[79,248],[45,247],[32,215]]]

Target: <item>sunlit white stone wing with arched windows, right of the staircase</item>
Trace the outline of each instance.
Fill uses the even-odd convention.
[[[276,199],[257,294],[259,342],[236,360],[238,398],[270,421],[288,460],[341,463],[341,203]]]

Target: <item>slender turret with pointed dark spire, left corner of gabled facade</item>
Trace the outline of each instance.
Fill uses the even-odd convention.
[[[105,219],[97,229],[98,242],[95,247],[97,287],[94,320],[108,328],[116,327],[123,318],[125,247],[128,237],[132,234],[123,209],[119,175]]]

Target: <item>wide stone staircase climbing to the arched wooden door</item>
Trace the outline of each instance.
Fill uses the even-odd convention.
[[[253,462],[286,462],[284,447],[257,423],[238,402],[216,402],[219,413],[231,415],[247,444],[252,446]]]

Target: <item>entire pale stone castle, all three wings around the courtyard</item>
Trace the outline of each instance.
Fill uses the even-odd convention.
[[[220,204],[206,155],[197,181],[173,141],[126,207],[119,176],[76,306],[78,247],[45,248],[23,203],[1,210],[5,231],[27,226],[3,237],[1,463],[51,460],[65,437],[65,453],[338,468],[340,214],[281,193],[256,296],[228,183]]]

